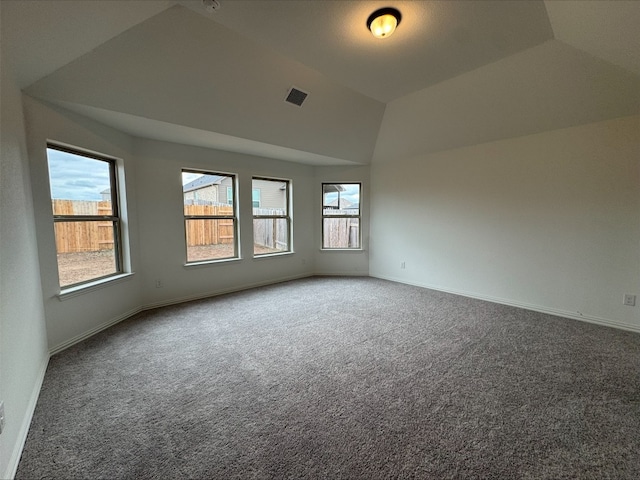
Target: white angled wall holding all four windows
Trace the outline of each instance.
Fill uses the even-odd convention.
[[[322,181],[363,182],[363,243],[368,232],[368,167],[322,167],[134,139],[110,127],[24,97],[33,185],[40,279],[48,345],[53,352],[142,308],[322,274],[367,274],[366,250],[318,253]],[[121,188],[130,255],[129,278],[60,300],[46,142],[110,155],[124,171]],[[239,179],[241,259],[185,266],[181,170],[235,173]],[[318,173],[319,172],[319,173]],[[253,176],[292,181],[293,253],[253,258]],[[156,282],[162,282],[156,288]]]

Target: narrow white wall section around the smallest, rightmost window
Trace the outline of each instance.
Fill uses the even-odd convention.
[[[362,183],[360,192],[361,250],[322,250],[322,183]],[[315,272],[318,275],[369,274],[369,166],[317,167],[313,189],[314,224],[312,241],[315,251]]]

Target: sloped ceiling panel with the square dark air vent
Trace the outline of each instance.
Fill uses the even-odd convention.
[[[302,107],[284,101],[292,85],[309,92]],[[150,119],[357,163],[371,159],[384,113],[381,102],[179,5],[26,92],[136,116],[139,126]]]

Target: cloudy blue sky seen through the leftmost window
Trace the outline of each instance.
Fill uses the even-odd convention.
[[[111,187],[109,163],[47,148],[51,198],[102,200],[100,192]]]

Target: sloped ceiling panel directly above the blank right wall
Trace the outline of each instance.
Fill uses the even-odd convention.
[[[374,161],[639,112],[640,77],[550,40],[389,102]]]

